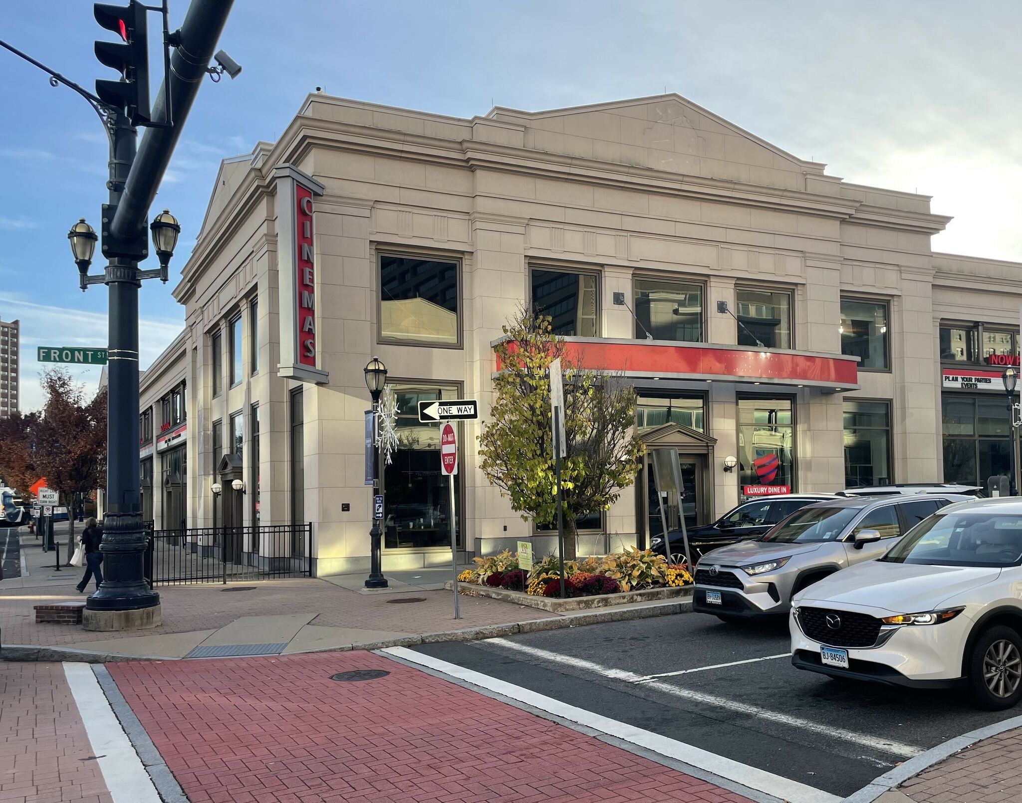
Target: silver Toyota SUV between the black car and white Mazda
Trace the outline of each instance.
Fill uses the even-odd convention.
[[[696,564],[692,609],[724,621],[787,614],[792,595],[828,574],[884,555],[959,493],[857,497],[819,502],[759,540],[707,553]]]

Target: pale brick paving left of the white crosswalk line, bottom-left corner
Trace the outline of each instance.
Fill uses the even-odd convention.
[[[0,801],[112,803],[60,664],[0,662]]]

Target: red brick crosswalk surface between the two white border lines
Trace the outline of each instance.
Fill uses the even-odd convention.
[[[109,670],[192,803],[747,803],[372,653]]]

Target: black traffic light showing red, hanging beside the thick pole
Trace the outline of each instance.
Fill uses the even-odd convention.
[[[124,110],[132,125],[149,122],[149,47],[145,6],[131,0],[127,6],[96,3],[96,21],[124,41],[96,42],[96,58],[121,73],[120,81],[97,81],[99,99]]]

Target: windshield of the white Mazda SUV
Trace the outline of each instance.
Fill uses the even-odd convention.
[[[930,516],[880,560],[926,566],[1018,566],[1022,563],[1022,517],[989,513]]]

